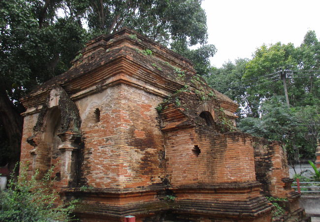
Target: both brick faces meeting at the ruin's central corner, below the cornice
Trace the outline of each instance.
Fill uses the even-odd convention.
[[[155,107],[162,98],[124,84],[107,92],[82,122],[81,184],[121,188],[161,183],[164,148]],[[94,123],[96,109],[100,122]]]

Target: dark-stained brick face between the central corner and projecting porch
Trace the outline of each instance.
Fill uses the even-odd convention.
[[[165,176],[163,137],[155,109],[163,98],[122,85],[123,142],[121,158],[125,187],[161,184]]]

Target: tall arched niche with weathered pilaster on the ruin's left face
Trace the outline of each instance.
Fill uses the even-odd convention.
[[[61,177],[62,185],[73,185],[80,138],[78,108],[64,89],[56,86],[42,105],[33,135],[28,138],[34,147],[33,170],[38,169],[43,175],[55,165],[60,170],[56,176]]]

